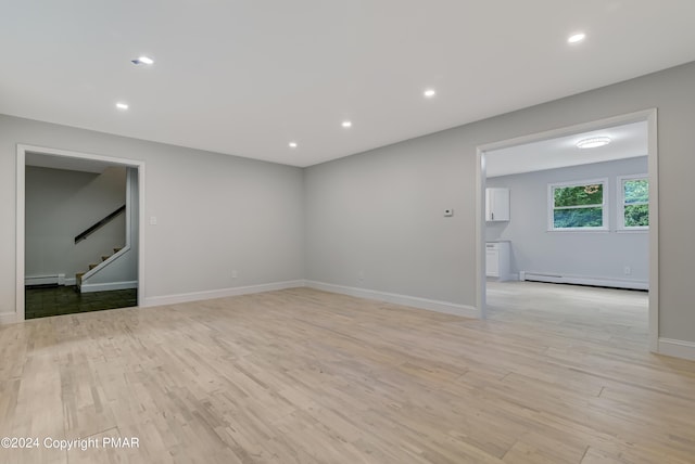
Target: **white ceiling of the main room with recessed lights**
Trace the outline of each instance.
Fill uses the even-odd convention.
[[[0,5],[0,113],[295,166],[695,60],[693,0]]]

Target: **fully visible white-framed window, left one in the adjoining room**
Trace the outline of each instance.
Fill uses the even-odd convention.
[[[608,230],[606,179],[548,185],[548,230]]]

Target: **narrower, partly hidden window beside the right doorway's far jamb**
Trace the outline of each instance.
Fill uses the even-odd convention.
[[[618,229],[649,228],[649,181],[646,175],[618,178]]]

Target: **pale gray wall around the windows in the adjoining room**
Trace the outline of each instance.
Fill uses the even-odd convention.
[[[509,222],[488,222],[486,240],[511,241],[511,272],[648,282],[648,232],[616,232],[617,176],[647,172],[646,156],[488,179],[510,191]],[[547,184],[607,178],[609,232],[548,232]],[[626,275],[623,268],[632,273]]]

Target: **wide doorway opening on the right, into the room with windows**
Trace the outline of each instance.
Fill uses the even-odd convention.
[[[535,286],[538,297],[566,288],[573,296],[560,296],[565,301],[624,295],[626,307],[648,307],[648,345],[658,351],[656,131],[656,109],[649,109],[478,149],[478,302],[483,317],[494,311],[488,307],[489,286],[502,300],[520,288],[504,282],[546,282],[526,289]],[[599,137],[609,143],[578,147]],[[492,202],[491,195],[503,199]],[[504,210],[505,202],[510,210]],[[491,208],[497,208],[495,217]],[[648,296],[603,287],[648,289]]]

